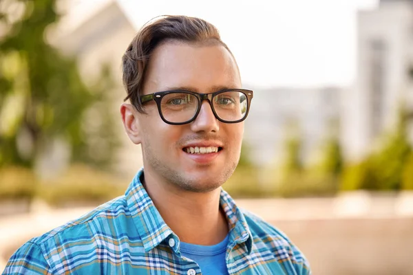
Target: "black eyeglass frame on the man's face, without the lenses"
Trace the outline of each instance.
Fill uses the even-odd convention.
[[[226,93],[228,91],[239,91],[240,93],[244,94],[246,96],[246,113],[244,115],[244,118],[240,119],[240,120],[235,120],[235,121],[228,121],[228,120],[222,120],[222,118],[220,118],[218,116],[218,114],[215,112],[215,109],[213,107],[212,104],[212,100],[213,98],[215,98],[215,96],[218,96],[219,94],[222,93]],[[172,94],[172,93],[184,93],[184,94],[191,94],[193,96],[195,96],[196,98],[198,98],[198,109],[195,111],[195,114],[193,115],[193,118],[191,118],[190,120],[187,120],[185,122],[169,122],[168,120],[166,120],[164,118],[164,116],[162,115],[162,111],[160,110],[160,102],[162,101],[162,98],[164,96],[166,96],[167,94]],[[209,101],[209,105],[211,106],[211,110],[213,112],[213,115],[215,115],[215,118],[217,120],[219,120],[220,122],[224,122],[224,123],[239,123],[242,122],[246,119],[246,117],[248,116],[249,113],[249,109],[251,106],[251,100],[253,99],[254,96],[254,92],[248,89],[222,89],[220,91],[215,91],[213,93],[210,94],[199,94],[199,93],[195,93],[193,91],[186,91],[186,90],[181,90],[181,89],[174,89],[174,90],[169,90],[169,91],[157,91],[156,93],[153,94],[147,94],[147,95],[143,95],[140,96],[140,103],[141,104],[145,104],[151,100],[155,100],[156,105],[158,106],[158,112],[160,115],[160,118],[162,118],[162,120],[167,123],[167,124],[171,124],[171,125],[183,125],[183,124],[188,124],[193,122],[193,120],[195,120],[198,117],[198,114],[200,113],[201,107],[202,107],[202,102],[204,100],[208,100]]]

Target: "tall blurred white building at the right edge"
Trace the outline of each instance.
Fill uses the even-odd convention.
[[[413,111],[413,1],[381,0],[357,19],[357,81],[341,115],[348,159],[363,157],[377,137],[391,131],[401,104]]]

